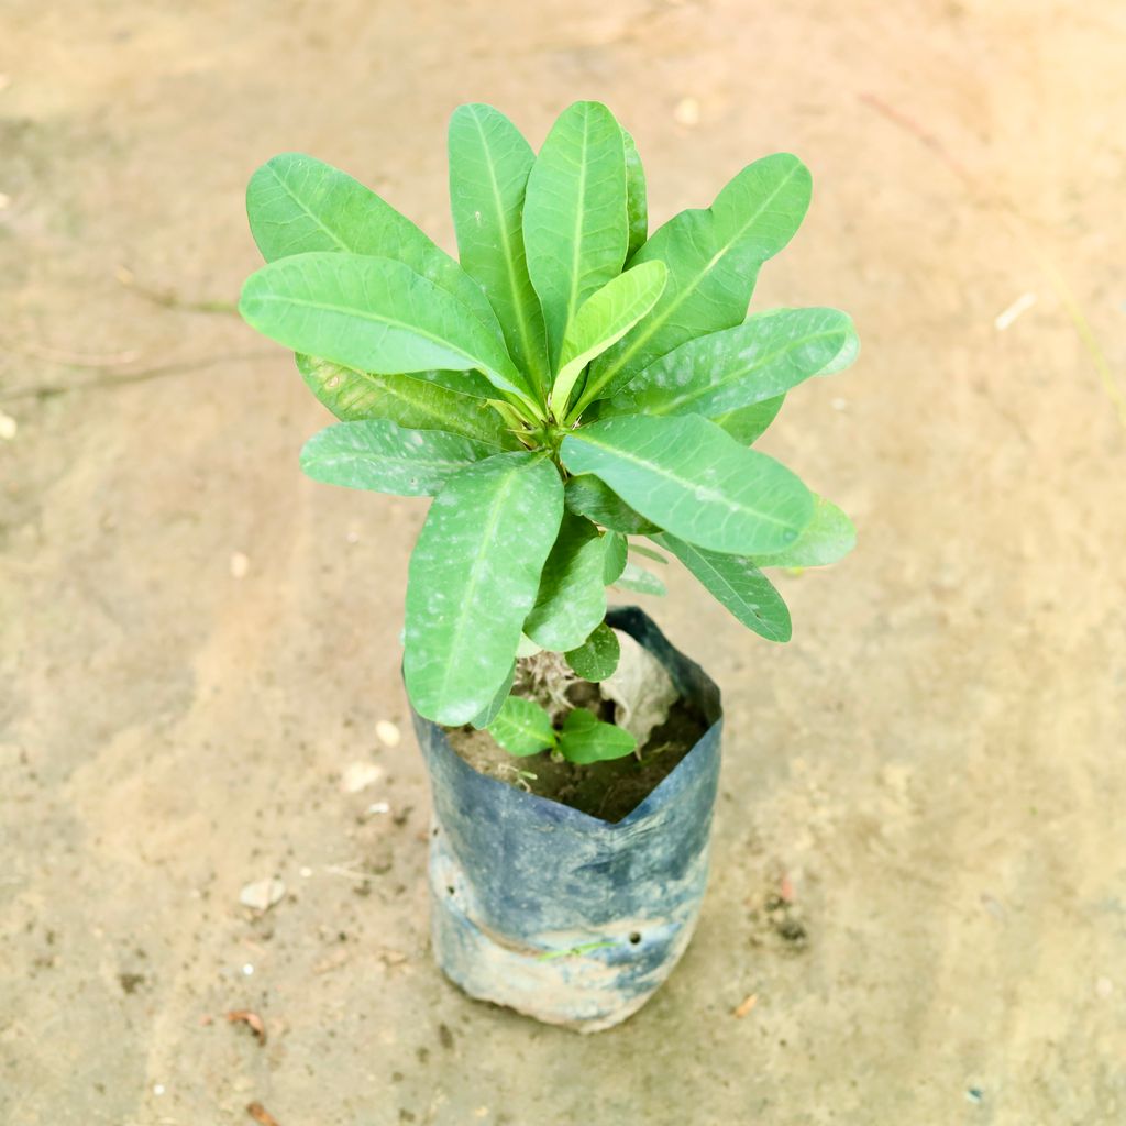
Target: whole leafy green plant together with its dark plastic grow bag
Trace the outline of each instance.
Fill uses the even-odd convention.
[[[788,640],[763,568],[825,564],[848,518],[751,444],[846,366],[830,309],[748,316],[810,173],[777,154],[647,234],[634,142],[572,105],[536,154],[488,106],[449,127],[459,261],[356,180],[278,157],[248,189],[267,265],[243,318],[339,421],[318,481],[434,497],[411,556],[403,677],[434,793],[437,959],[468,993],[582,1030],[641,1007],[707,873],[718,691],[608,586],[676,556]],[[645,542],[647,540],[647,543]]]

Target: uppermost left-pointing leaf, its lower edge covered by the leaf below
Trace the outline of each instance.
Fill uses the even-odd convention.
[[[500,336],[473,278],[405,215],[331,164],[293,152],[267,161],[247,186],[247,215],[268,262],[312,250],[394,258],[457,297]]]

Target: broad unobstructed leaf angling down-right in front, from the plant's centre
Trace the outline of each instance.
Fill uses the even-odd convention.
[[[568,435],[561,454],[572,473],[595,473],[647,520],[712,551],[780,551],[813,517],[789,470],[695,414],[606,419]]]

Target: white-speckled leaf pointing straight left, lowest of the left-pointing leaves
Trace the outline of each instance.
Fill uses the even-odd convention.
[[[301,452],[301,467],[314,481],[330,485],[432,497],[455,473],[497,453],[497,446],[461,435],[364,419],[314,434]]]

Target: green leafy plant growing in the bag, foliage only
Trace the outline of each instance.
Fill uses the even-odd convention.
[[[747,315],[810,173],[758,160],[647,236],[637,150],[605,106],[571,106],[536,154],[470,105],[449,126],[449,189],[459,263],[343,172],[277,157],[248,190],[268,265],[240,309],[341,420],[305,446],[310,476],[435,498],[406,590],[417,711],[489,726],[513,754],[628,754],[633,736],[592,713],[555,731],[509,691],[539,650],[587,680],[613,672],[607,584],[662,589],[629,558],[653,554],[636,537],[779,642],[789,615],[762,568],[854,542],[838,508],[749,448],[792,387],[857,351],[835,310]]]

